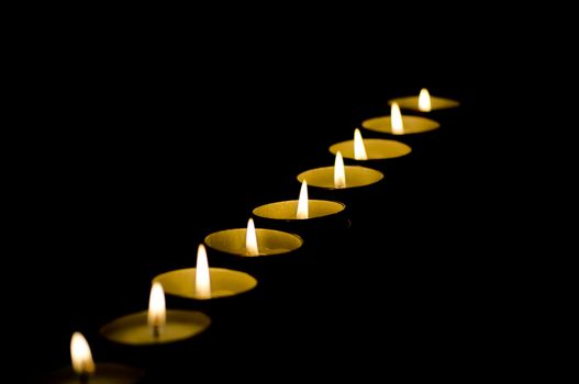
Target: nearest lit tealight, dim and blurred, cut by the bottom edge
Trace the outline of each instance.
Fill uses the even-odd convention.
[[[115,363],[94,364],[87,339],[75,332],[70,339],[73,366],[62,369],[41,377],[41,384],[133,384],[144,377],[136,368]]]

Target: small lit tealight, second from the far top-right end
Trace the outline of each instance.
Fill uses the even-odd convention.
[[[390,116],[365,120],[361,122],[361,126],[366,129],[388,133],[391,135],[410,135],[433,131],[441,125],[431,118],[402,115],[400,106],[397,102],[393,102],[390,108]]]

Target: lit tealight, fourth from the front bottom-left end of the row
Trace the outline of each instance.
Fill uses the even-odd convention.
[[[303,244],[300,236],[275,229],[255,228],[253,218],[247,228],[220,230],[205,237],[208,247],[241,257],[261,257],[288,253]]]

